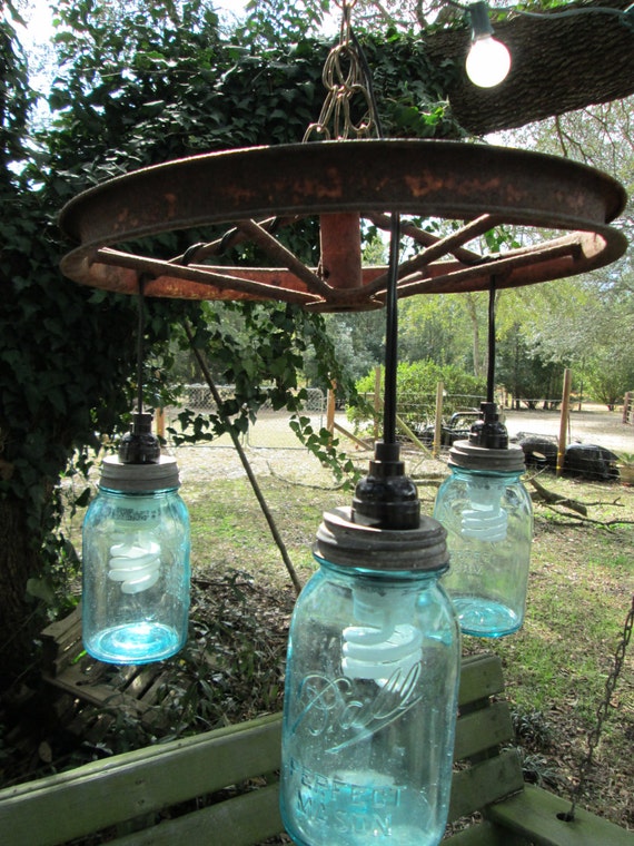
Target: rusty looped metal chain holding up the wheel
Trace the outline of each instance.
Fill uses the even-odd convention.
[[[345,139],[349,137],[369,138],[377,132],[378,121],[372,92],[368,90],[364,66],[351,31],[350,13],[357,0],[343,0],[339,43],[336,45],[324,65],[321,81],[328,91],[319,119],[310,124],[303,142],[309,141],[313,134],[321,140]],[[355,122],[353,118],[353,99],[360,100],[358,111],[363,117]],[[365,101],[365,110],[363,105]],[[330,126],[331,125],[331,126]]]

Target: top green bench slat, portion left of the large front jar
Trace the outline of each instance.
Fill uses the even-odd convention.
[[[279,767],[280,741],[274,715],[8,788],[0,791],[3,846],[55,846],[261,776]]]

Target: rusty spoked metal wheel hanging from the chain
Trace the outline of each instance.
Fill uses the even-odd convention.
[[[62,259],[76,282],[146,296],[299,303],[316,311],[380,307],[387,270],[361,262],[361,220],[388,228],[390,213],[448,222],[437,236],[404,218],[410,237],[398,296],[516,287],[603,267],[623,255],[608,224],[623,187],[585,165],[453,141],[350,140],[206,154],[117,177],[76,197],[60,226],[79,246]],[[309,267],[276,233],[318,217],[320,262]],[[482,252],[496,226],[531,227],[527,246]],[[222,237],[182,255],[137,255],[126,243],[205,226]],[[554,230],[544,236],[544,230]],[[564,233],[564,234],[562,234]],[[228,267],[219,254],[252,242],[273,267]]]

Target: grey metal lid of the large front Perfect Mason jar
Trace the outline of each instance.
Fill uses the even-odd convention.
[[[334,564],[366,570],[435,572],[449,564],[447,532],[437,520],[422,517],[416,529],[377,529],[351,520],[351,509],[324,513],[315,554]]]

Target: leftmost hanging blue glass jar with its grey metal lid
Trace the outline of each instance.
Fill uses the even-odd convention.
[[[83,522],[82,631],[100,661],[147,663],[187,639],[189,518],[176,461],[105,459]]]

